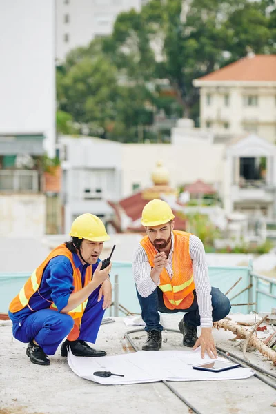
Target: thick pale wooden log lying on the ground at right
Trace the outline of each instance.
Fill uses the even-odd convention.
[[[221,319],[219,322],[214,322],[214,327],[217,329],[223,328],[226,331],[232,331],[238,337],[244,339],[247,339],[250,335],[250,331],[248,331],[248,329],[245,329],[242,326],[237,325],[235,322],[228,321],[226,319]],[[260,353],[262,353],[265,357],[270,359],[274,365],[276,365],[276,352],[273,351],[273,349],[268,348],[268,346],[266,346],[266,344],[264,344],[261,339],[253,335],[250,337],[248,345],[254,346]]]

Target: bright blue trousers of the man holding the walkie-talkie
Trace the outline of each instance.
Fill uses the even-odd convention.
[[[86,310],[81,318],[78,339],[95,343],[103,319],[103,297],[98,302],[99,288],[88,297]],[[24,322],[12,324],[15,339],[30,342],[34,339],[47,355],[54,355],[61,341],[70,333],[74,321],[67,313],[41,309],[26,317]]]

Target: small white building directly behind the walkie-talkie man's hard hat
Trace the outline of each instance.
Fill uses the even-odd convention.
[[[82,213],[95,214],[105,223],[112,216],[107,201],[121,198],[121,146],[99,138],[60,137],[64,233]]]

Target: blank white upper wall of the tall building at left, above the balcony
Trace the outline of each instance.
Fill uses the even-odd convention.
[[[1,0],[0,39],[0,154],[37,135],[53,156],[55,0]]]

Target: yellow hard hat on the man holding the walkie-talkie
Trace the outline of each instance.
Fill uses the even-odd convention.
[[[91,242],[105,242],[110,239],[101,219],[90,213],[84,213],[72,222],[69,235]]]

